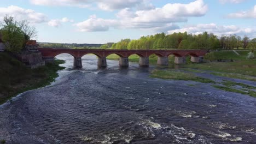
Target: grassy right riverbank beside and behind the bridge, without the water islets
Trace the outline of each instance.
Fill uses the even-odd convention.
[[[212,75],[230,77],[234,79],[242,79],[249,81],[256,81],[256,59],[247,59],[249,51],[237,51],[239,56],[232,51],[216,51],[213,52],[211,63],[192,63],[187,57],[186,64],[179,64],[179,68],[187,71],[202,72],[210,71]],[[254,52],[255,53],[255,52]],[[167,68],[174,68],[174,57],[169,56],[169,66]],[[110,55],[107,59],[118,60],[118,55]],[[231,62],[217,62],[217,60],[229,60]],[[130,62],[138,62],[139,56],[131,55]],[[156,64],[158,57],[152,55],[149,57],[150,64]]]

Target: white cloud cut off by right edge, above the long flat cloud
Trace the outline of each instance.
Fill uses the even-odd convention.
[[[229,18],[252,18],[256,19],[256,5],[254,5],[253,9],[247,11],[240,11],[237,13],[231,13],[227,17]]]

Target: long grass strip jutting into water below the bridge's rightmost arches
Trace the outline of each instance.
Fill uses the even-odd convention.
[[[153,70],[150,77],[157,77],[161,79],[172,79],[172,80],[189,80],[197,81],[202,83],[215,83],[213,80],[198,77],[191,73],[183,73],[181,71],[173,70]]]

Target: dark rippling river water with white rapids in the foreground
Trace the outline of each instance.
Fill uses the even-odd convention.
[[[51,86],[0,106],[7,143],[256,143],[256,99],[193,81],[149,77],[149,68],[119,68],[95,56],[73,57]],[[188,86],[194,84],[195,86]]]

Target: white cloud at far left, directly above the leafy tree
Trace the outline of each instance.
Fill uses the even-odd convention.
[[[15,20],[18,21],[28,20],[31,23],[42,23],[47,21],[46,15],[37,13],[32,9],[24,9],[15,5],[10,5],[7,8],[0,7],[0,19],[3,20],[3,17],[6,15],[13,16]]]

